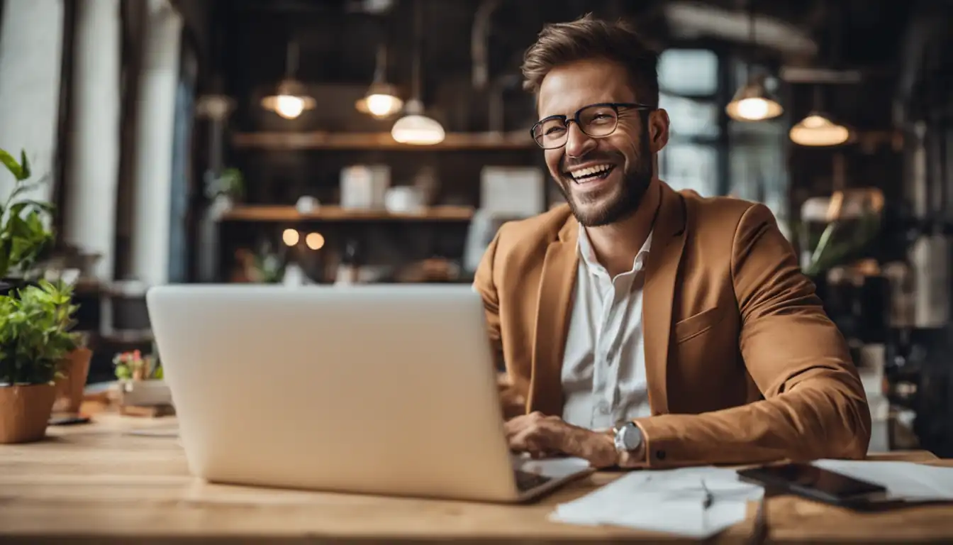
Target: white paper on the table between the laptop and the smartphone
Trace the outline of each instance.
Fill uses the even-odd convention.
[[[705,509],[705,488],[714,496]],[[631,472],[578,500],[557,506],[554,520],[611,524],[704,538],[744,520],[747,503],[763,490],[743,483],[734,470],[684,468]]]

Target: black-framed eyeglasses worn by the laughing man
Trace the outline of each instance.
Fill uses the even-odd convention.
[[[569,139],[569,124],[576,123],[582,134],[602,138],[616,132],[620,110],[655,110],[654,107],[637,102],[604,102],[579,108],[576,115],[550,115],[538,120],[530,135],[544,150],[555,150],[566,145]]]

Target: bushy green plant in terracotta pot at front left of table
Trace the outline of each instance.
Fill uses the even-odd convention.
[[[0,443],[38,441],[53,407],[53,381],[79,347],[72,289],[40,280],[0,296]]]

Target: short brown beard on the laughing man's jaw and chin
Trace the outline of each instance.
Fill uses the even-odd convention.
[[[563,178],[557,182],[556,185],[569,203],[573,216],[583,226],[609,225],[632,216],[639,209],[642,197],[652,182],[652,151],[649,149],[647,136],[641,138],[639,147],[641,149],[635,164],[630,165],[631,170],[622,173],[621,187],[607,188],[608,192],[617,193],[595,209],[585,210],[579,205],[569,187],[569,184],[575,183],[572,179]],[[565,169],[562,171],[565,172]]]

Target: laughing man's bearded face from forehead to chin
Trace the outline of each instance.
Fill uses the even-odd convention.
[[[567,115],[598,103],[639,103],[625,68],[605,60],[584,60],[553,69],[539,88],[538,115]],[[618,111],[618,126],[609,136],[594,138],[570,123],[566,145],[546,150],[546,166],[579,223],[607,225],[631,216],[652,180],[652,157],[665,138],[651,138],[648,115],[636,109]],[[664,121],[664,122],[663,122]],[[661,113],[667,136],[667,116]],[[659,127],[655,127],[658,129]],[[660,145],[659,145],[659,142]],[[605,169],[586,177],[592,167]]]

